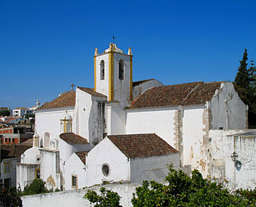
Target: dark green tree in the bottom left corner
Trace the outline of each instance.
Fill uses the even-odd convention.
[[[22,199],[18,196],[16,189],[0,188],[0,206],[18,207],[22,206]]]

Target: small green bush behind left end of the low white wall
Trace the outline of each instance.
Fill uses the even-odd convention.
[[[47,193],[47,189],[45,186],[45,182],[41,179],[34,179],[34,181],[30,185],[26,185],[22,195],[33,195],[38,193]]]

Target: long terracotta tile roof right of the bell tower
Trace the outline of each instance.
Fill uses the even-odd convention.
[[[154,87],[135,99],[130,108],[202,105],[213,98],[222,82],[190,82]]]

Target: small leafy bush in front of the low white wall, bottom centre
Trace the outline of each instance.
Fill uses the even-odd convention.
[[[101,188],[101,195],[98,195],[95,191],[88,190],[84,198],[88,199],[90,203],[95,203],[95,207],[119,207],[120,196],[118,193],[109,189]]]

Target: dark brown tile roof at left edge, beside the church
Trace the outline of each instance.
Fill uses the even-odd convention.
[[[19,158],[26,149],[31,147],[31,145],[1,145],[1,158]]]

